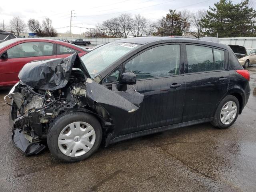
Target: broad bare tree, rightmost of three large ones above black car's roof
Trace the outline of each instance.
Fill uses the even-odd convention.
[[[150,35],[150,20],[140,14],[135,15],[131,31],[134,37]]]

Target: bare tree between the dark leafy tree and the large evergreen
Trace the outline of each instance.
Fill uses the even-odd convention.
[[[193,12],[191,15],[191,27],[190,27],[190,34],[196,38],[204,37],[206,28],[202,27],[202,18],[207,14],[207,11],[202,9],[202,10],[197,10],[196,12]]]

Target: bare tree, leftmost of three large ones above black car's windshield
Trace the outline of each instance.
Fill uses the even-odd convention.
[[[120,23],[117,17],[108,19],[103,22],[102,28],[105,30],[107,36],[114,38],[120,37]]]

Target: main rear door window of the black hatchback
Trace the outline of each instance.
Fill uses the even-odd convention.
[[[212,48],[186,45],[188,73],[214,70]]]

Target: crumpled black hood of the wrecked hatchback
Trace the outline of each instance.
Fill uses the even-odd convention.
[[[72,68],[80,68],[85,78],[90,74],[77,53],[66,58],[39,60],[27,63],[18,75],[26,85],[41,90],[56,90],[66,86]]]

